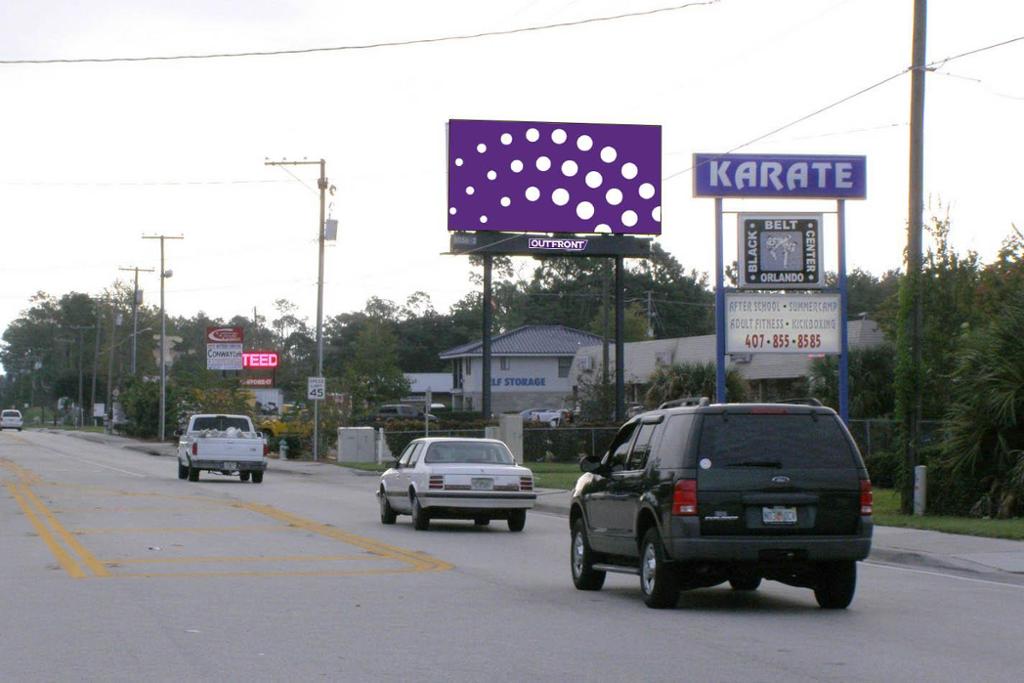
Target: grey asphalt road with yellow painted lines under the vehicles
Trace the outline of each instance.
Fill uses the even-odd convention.
[[[408,517],[376,477],[262,484],[170,458],[0,433],[2,681],[1011,681],[1024,587],[860,566],[845,611],[714,588],[651,610],[637,580],[572,588],[568,529]]]

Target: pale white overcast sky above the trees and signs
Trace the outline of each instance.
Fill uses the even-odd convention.
[[[478,34],[669,7],[680,0],[8,0],[0,59],[293,50]],[[98,293],[119,266],[157,267],[170,314],[272,315],[316,305],[314,167],[327,160],[339,239],[325,313],[416,290],[445,310],[469,291],[447,250],[445,123],[506,119],[663,126],[662,245],[714,270],[713,202],[695,152],[737,147],[904,70],[912,0],[722,0],[506,36],[280,56],[0,65],[0,329],[44,290]],[[1024,35],[1024,4],[932,0],[928,59]],[[928,76],[928,201],[959,249],[994,256],[1022,220],[1024,41]],[[848,263],[901,265],[909,76],[754,144],[749,153],[867,157],[848,202]],[[830,210],[828,203],[727,209]],[[943,211],[945,209],[942,209]],[[826,221],[826,225],[829,223]],[[734,227],[726,253],[734,258]],[[825,265],[835,268],[835,233]],[[528,268],[530,262],[523,261]],[[525,272],[526,270],[524,270]],[[143,274],[158,302],[156,273]]]

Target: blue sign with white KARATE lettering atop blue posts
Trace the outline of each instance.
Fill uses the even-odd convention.
[[[695,154],[693,196],[862,200],[867,158]]]

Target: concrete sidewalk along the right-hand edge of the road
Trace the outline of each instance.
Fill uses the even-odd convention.
[[[175,443],[141,441],[94,432],[47,431],[97,443],[106,443],[115,447],[137,451],[151,456],[173,458],[176,453]],[[271,459],[269,469],[315,476],[317,472],[323,471],[325,466],[334,467],[335,464],[333,462],[313,463]],[[570,492],[539,488],[537,494],[537,510],[568,515]],[[1024,585],[1024,541],[985,539],[896,526],[876,526],[870,559],[884,563],[953,570],[965,574],[987,574],[987,578],[990,579],[1001,579]]]

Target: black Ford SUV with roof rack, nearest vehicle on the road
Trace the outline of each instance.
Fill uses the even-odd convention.
[[[871,547],[871,484],[835,411],[787,403],[665,408],[627,422],[572,492],[572,582],[640,577],[650,607],[680,590],[762,579],[850,604]]]

